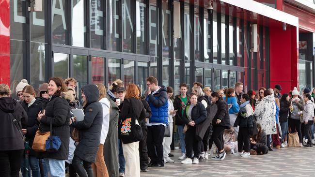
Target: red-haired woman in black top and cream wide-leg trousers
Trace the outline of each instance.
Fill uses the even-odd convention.
[[[135,122],[145,118],[145,109],[139,98],[140,92],[136,85],[129,84],[126,90],[126,98],[121,110],[121,121],[126,118],[136,118]],[[135,130],[135,129],[133,129]],[[122,139],[123,152],[126,160],[126,177],[140,177],[139,141],[134,139]]]

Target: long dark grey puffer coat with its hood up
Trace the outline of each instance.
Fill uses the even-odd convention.
[[[103,108],[97,101],[99,91],[96,85],[86,85],[82,87],[82,91],[86,98],[86,105],[83,107],[85,116],[82,121],[71,124],[79,129],[80,138],[74,154],[83,161],[95,162],[102,131]]]

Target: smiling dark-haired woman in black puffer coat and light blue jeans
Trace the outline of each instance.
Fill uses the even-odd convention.
[[[50,131],[51,121],[52,135],[58,136],[61,140],[61,146],[57,152],[44,152],[42,154],[52,177],[65,176],[64,164],[69,155],[70,108],[68,102],[60,96],[63,91],[65,91],[63,79],[60,77],[50,78],[48,84],[49,101],[44,113],[38,114],[37,117],[40,122],[40,133]]]

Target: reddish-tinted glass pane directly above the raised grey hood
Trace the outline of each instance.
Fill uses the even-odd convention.
[[[103,57],[92,57],[92,82],[96,83],[105,83],[104,78],[104,58]]]

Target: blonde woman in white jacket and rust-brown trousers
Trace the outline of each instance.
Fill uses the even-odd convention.
[[[103,84],[95,84],[99,91],[98,102],[103,108],[103,124],[101,132],[101,141],[96,154],[96,160],[92,164],[94,177],[109,177],[104,160],[104,143],[110,126],[110,101],[106,98],[106,88]]]

